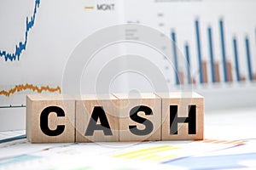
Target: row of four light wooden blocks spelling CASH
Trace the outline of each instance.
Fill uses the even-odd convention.
[[[49,107],[64,115],[50,110],[40,121]],[[195,119],[188,119],[192,113]],[[65,127],[60,134],[49,135],[42,127],[45,122],[49,131]],[[203,139],[203,128],[204,98],[196,93],[26,97],[26,137],[32,143]]]

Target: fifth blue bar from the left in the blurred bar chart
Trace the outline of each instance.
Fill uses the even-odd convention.
[[[222,62],[224,68],[224,82],[229,82],[228,72],[226,65],[226,53],[225,53],[225,44],[224,44],[224,26],[223,20],[219,20],[219,29],[220,29],[220,39],[221,39],[221,48],[222,48]]]

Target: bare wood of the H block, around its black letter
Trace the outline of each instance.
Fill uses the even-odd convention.
[[[204,98],[200,94],[195,93],[170,93],[157,94],[162,99],[162,140],[189,140],[203,139],[204,128]],[[170,105],[177,105],[177,116],[188,117],[189,105],[195,105],[196,108],[196,133],[189,134],[188,123],[178,123],[177,134],[170,134]]]

